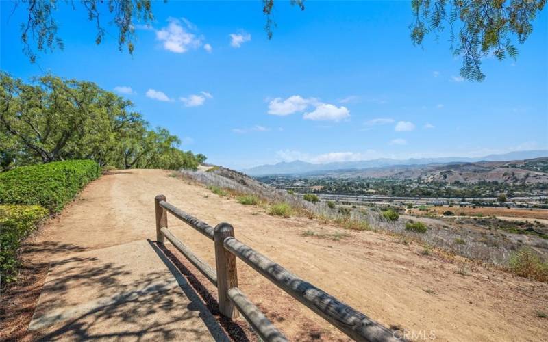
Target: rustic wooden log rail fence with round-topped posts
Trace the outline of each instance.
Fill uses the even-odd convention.
[[[235,318],[238,317],[239,311],[264,341],[281,342],[288,341],[288,339],[238,289],[236,257],[356,341],[403,340],[393,331],[356,311],[351,306],[340,302],[340,300],[318,289],[310,282],[306,282],[295,274],[288,272],[284,267],[238,241],[234,237],[234,228],[230,224],[220,223],[213,228],[166,202],[166,196],[164,195],[156,196],[154,202],[157,241],[163,243],[164,239],[168,239],[192,265],[195,265],[217,287],[219,311],[222,315]],[[169,231],[167,226],[168,212],[214,241],[215,269],[200,260],[190,248]],[[234,310],[235,308],[238,311]]]

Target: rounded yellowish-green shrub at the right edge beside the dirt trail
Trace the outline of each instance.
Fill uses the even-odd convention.
[[[518,276],[548,282],[548,262],[542,261],[530,248],[512,252],[508,268]]]

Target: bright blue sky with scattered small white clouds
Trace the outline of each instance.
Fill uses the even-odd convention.
[[[0,1],[1,69],[94,81],[185,150],[232,168],[548,148],[546,10],[516,62],[486,58],[486,81],[471,83],[447,37],[413,46],[409,1],[307,1],[304,11],[279,1],[270,41],[261,4],[158,1],[133,56],[113,27],[96,46],[86,14],[61,5],[64,51],[31,64],[24,12],[10,17],[12,2]]]

